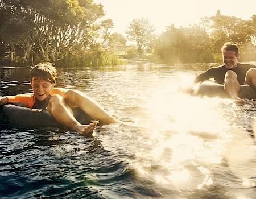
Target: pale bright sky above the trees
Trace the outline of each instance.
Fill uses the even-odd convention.
[[[160,34],[167,26],[189,27],[200,18],[222,15],[249,20],[256,14],[256,0],[94,0],[104,6],[105,19],[112,19],[114,28],[125,36],[131,20],[147,18]]]

